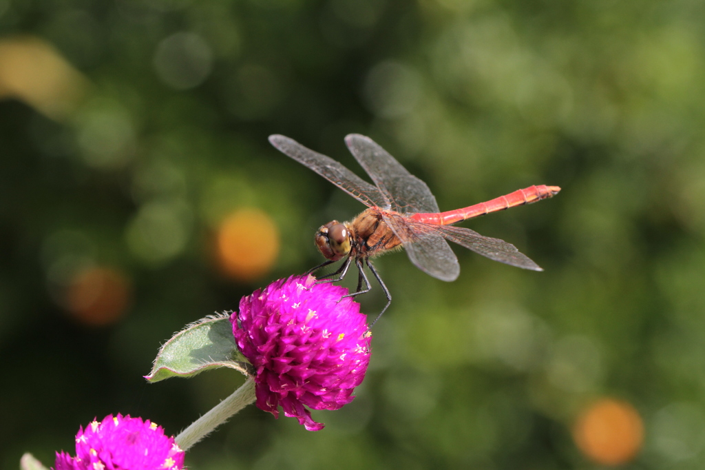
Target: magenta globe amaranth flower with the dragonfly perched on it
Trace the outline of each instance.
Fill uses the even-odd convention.
[[[312,276],[280,279],[240,300],[231,315],[240,351],[255,366],[257,407],[298,418],[307,430],[324,425],[311,409],[353,401],[369,363],[367,317],[348,289]]]

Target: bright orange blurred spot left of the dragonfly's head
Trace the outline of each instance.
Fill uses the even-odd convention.
[[[279,253],[279,231],[266,212],[240,209],[226,217],[217,234],[218,259],[226,275],[250,281],[271,270]]]

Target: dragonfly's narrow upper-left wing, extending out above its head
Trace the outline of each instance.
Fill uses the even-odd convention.
[[[314,152],[284,135],[270,135],[269,142],[283,154],[309,167],[361,203],[368,206],[390,207],[391,201],[379,191],[379,188],[367,183],[331,157]]]

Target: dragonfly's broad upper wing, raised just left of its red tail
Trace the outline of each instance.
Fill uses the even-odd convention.
[[[391,202],[396,212],[441,212],[429,187],[369,137],[350,134],[348,149]]]

